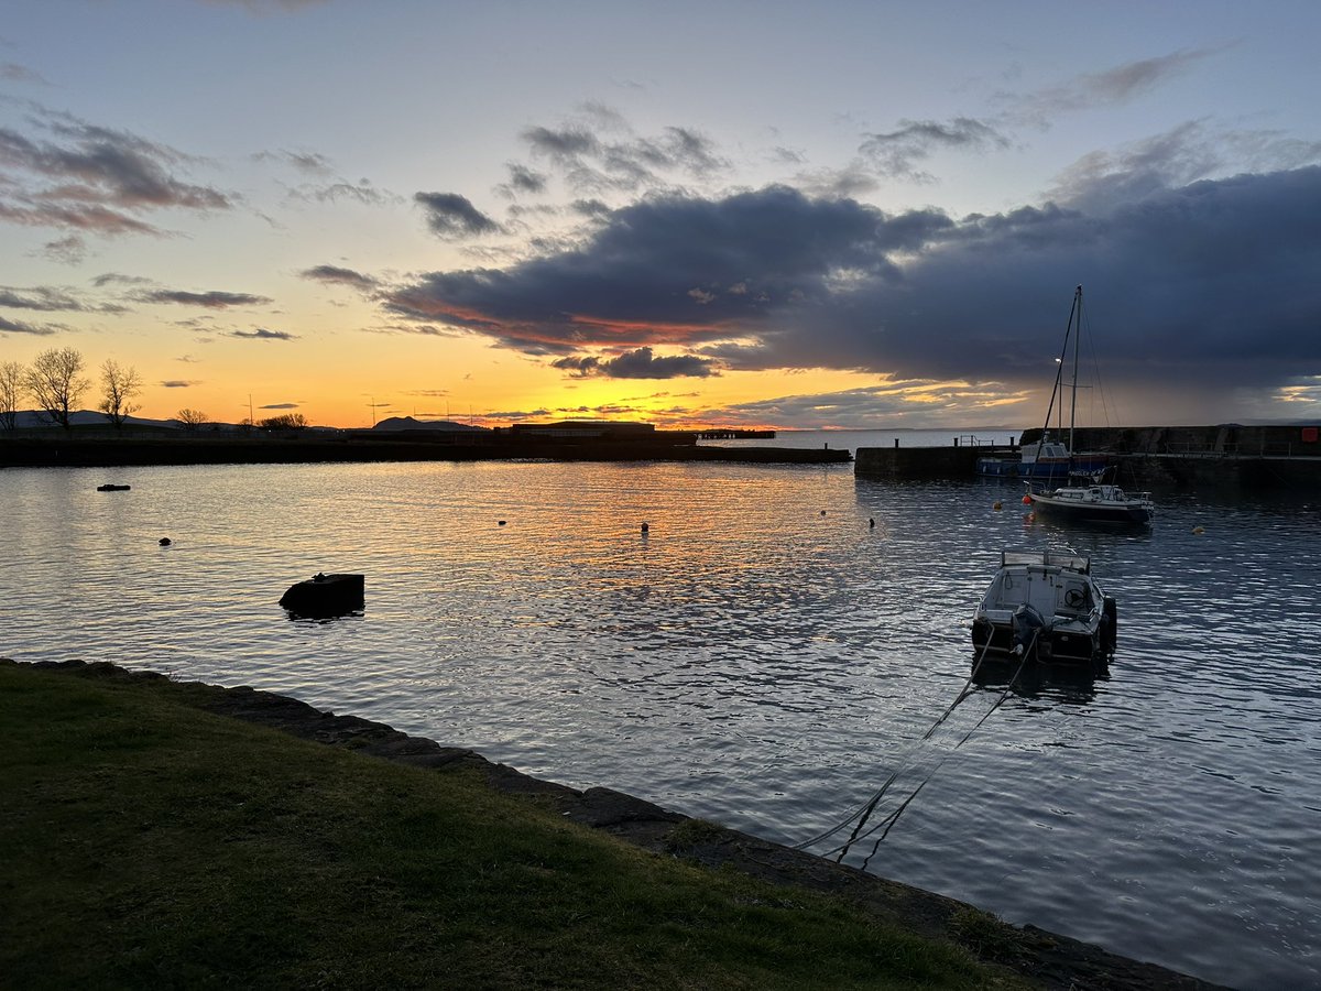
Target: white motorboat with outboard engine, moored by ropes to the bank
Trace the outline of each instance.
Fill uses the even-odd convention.
[[[1036,659],[1103,671],[1115,653],[1119,610],[1091,560],[1062,551],[1004,551],[972,617],[978,662]]]

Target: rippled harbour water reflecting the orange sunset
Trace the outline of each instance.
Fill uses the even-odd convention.
[[[285,692],[790,844],[930,776],[849,863],[1206,979],[1321,984],[1318,506],[1165,495],[1149,531],[1096,532],[1018,494],[851,465],[4,470],[0,654]],[[1001,548],[1048,544],[1119,600],[1110,678],[988,686],[918,743]],[[291,620],[317,571],[365,572],[365,613]]]

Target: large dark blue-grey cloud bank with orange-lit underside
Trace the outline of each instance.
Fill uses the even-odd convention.
[[[1036,388],[1083,284],[1107,375],[1131,385],[1321,374],[1321,168],[1108,192],[959,219],[783,186],[658,197],[575,250],[384,299],[575,375],[826,367]],[[666,365],[657,345],[691,357]]]

